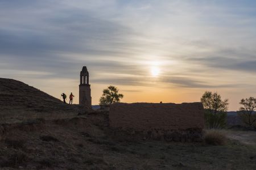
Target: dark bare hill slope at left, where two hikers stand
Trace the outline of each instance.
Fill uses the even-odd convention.
[[[0,78],[0,108],[1,117],[12,118],[39,114],[49,114],[49,117],[58,113],[77,114],[82,107],[63,104],[63,101],[23,82]]]

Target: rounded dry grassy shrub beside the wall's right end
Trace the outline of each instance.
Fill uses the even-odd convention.
[[[209,130],[204,136],[204,142],[207,145],[225,145],[226,140],[226,135],[219,130]]]

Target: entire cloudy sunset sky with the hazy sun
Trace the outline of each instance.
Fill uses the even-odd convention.
[[[0,0],[0,77],[92,104],[117,86],[126,103],[256,97],[256,1]]]

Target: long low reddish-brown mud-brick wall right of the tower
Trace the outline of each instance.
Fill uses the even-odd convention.
[[[110,126],[138,130],[204,128],[201,103],[115,103],[110,105]]]

